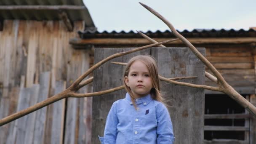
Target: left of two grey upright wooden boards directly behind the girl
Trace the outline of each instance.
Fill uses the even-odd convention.
[[[94,63],[101,61],[102,59],[110,56],[114,53],[128,51],[131,48],[95,48]],[[128,62],[133,56],[139,54],[150,54],[150,49],[140,51],[137,53],[131,53],[126,56],[112,59],[111,61]],[[113,71],[115,69],[115,71]],[[93,91],[103,91],[109,88],[114,88],[119,85],[123,85],[123,69],[124,67],[111,64],[110,61],[103,64],[101,67],[93,72]],[[102,96],[93,97],[93,111],[92,111],[92,144],[99,144],[99,136],[103,136],[106,123],[107,114],[114,101],[117,99],[123,99],[125,97],[125,91],[115,91]]]

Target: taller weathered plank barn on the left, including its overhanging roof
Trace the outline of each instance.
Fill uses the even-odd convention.
[[[95,30],[82,0],[1,0],[0,21],[0,118],[63,91],[89,68],[91,51],[69,45],[78,30]],[[90,107],[91,98],[62,99],[1,126],[0,144],[91,144]]]

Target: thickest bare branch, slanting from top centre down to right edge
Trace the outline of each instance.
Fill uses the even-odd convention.
[[[218,80],[218,85],[221,91],[229,95],[232,99],[237,101],[238,104],[240,104],[242,107],[247,109],[251,114],[253,114],[254,117],[256,117],[256,107],[253,106],[249,101],[247,101],[243,96],[241,96],[237,91],[235,91],[232,86],[230,86],[222,77],[222,75],[218,72],[218,70],[195,48],[194,45],[192,45],[185,37],[183,37],[179,32],[176,31],[176,29],[173,27],[173,25],[166,20],[163,16],[161,16],[157,11],[153,10],[149,6],[140,3],[144,8],[146,8],[148,11],[153,13],[155,16],[157,16],[159,19],[161,19],[170,29],[173,35],[178,37],[185,45],[187,45],[188,48],[213,72],[213,75],[216,76]]]

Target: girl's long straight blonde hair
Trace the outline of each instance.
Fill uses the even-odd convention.
[[[152,85],[153,85],[153,88],[151,88],[151,90],[150,90],[150,94],[151,94],[152,99],[155,99],[156,101],[160,101],[163,104],[165,104],[165,106],[166,106],[167,105],[165,103],[166,100],[163,98],[163,95],[160,92],[160,84],[159,84],[159,77],[158,77],[158,71],[157,71],[157,63],[156,63],[155,58],[150,56],[150,55],[147,55],[147,56],[139,55],[139,56],[135,56],[135,57],[131,58],[130,61],[128,61],[128,63],[126,64],[125,73],[124,73],[124,76],[123,76],[123,82],[124,82],[125,90],[130,94],[131,101],[133,102],[134,108],[136,109],[136,107],[137,107],[136,103],[135,103],[136,98],[135,98],[135,96],[133,96],[131,88],[126,85],[124,77],[128,77],[130,67],[135,61],[143,62],[149,70],[149,77],[151,78]]]

